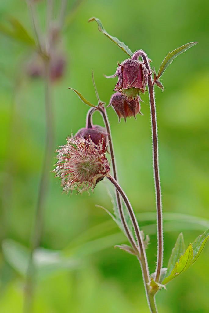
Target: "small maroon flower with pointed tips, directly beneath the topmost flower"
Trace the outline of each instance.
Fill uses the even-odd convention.
[[[127,99],[120,92],[116,92],[110,98],[110,103],[108,107],[111,105],[115,112],[118,115],[119,121],[121,117],[124,117],[126,121],[126,117],[134,116],[136,118],[136,114],[142,113],[140,112],[140,97],[137,96],[134,99]]]

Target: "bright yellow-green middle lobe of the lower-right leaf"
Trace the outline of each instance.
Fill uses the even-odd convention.
[[[192,245],[190,244],[186,249],[185,253],[181,255],[179,262],[176,262],[176,265],[174,266],[174,269],[171,271],[171,274],[162,281],[162,284],[166,285],[176,276],[186,271],[186,269],[188,269],[191,266],[192,259],[193,259],[193,249]]]

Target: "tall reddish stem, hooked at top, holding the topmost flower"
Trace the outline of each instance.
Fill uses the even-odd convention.
[[[153,151],[153,168],[154,168],[154,181],[155,181],[155,198],[156,198],[156,209],[157,209],[157,267],[155,271],[155,281],[158,282],[163,263],[163,217],[162,217],[162,200],[161,200],[161,183],[159,174],[158,164],[158,136],[157,136],[157,118],[155,109],[155,96],[154,96],[154,84],[151,76],[150,64],[147,55],[144,51],[138,50],[133,55],[132,59],[138,59],[142,57],[145,66],[149,71],[148,75],[148,90],[150,98],[150,114],[151,114],[151,125],[152,125],[152,151]]]

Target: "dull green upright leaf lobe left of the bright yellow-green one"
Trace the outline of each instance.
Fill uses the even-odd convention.
[[[174,268],[176,262],[179,261],[180,256],[183,255],[185,252],[185,245],[184,245],[184,237],[183,234],[180,233],[176,240],[176,244],[172,250],[170,259],[168,261],[168,266],[167,266],[167,276],[169,276],[172,272],[172,269]]]

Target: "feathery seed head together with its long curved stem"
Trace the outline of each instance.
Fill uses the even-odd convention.
[[[53,172],[56,173],[55,177],[61,178],[61,186],[64,192],[68,193],[70,190],[72,193],[73,189],[78,190],[80,193],[89,189],[93,190],[98,182],[107,177],[123,198],[137,239],[137,248],[132,251],[139,259],[141,265],[150,310],[153,313],[157,312],[154,295],[149,292],[150,274],[142,233],[125,192],[110,175],[109,162],[103,152],[103,141],[96,145],[91,139],[87,141],[81,137],[74,139],[71,136],[67,138],[67,144],[60,146],[57,152],[58,162]],[[123,209],[122,216],[124,217]]]

